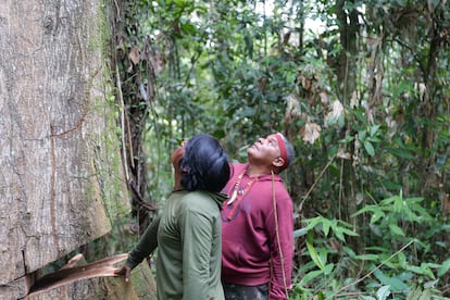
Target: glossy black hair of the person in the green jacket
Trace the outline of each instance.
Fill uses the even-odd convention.
[[[182,185],[187,190],[221,191],[229,179],[229,161],[218,140],[198,134],[188,140],[182,160]]]

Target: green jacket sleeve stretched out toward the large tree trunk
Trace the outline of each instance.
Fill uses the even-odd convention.
[[[135,268],[145,258],[150,255],[158,247],[158,227],[160,226],[161,216],[158,215],[147,227],[143,235],[139,238],[136,247],[128,253],[126,264]]]

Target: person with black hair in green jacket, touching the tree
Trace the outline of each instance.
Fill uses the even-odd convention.
[[[224,299],[221,283],[222,220],[229,161],[218,141],[205,134],[174,152],[175,188],[165,208],[115,271],[130,271],[158,247],[158,299]],[[178,164],[179,162],[179,164]]]

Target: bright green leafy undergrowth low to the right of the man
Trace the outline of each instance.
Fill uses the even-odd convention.
[[[304,220],[296,238],[307,236],[304,254],[311,261],[297,271],[299,280],[292,293],[298,298],[293,299],[318,293],[327,299],[349,295],[388,299],[391,293],[396,299],[439,299],[441,292],[436,286],[449,275],[450,259],[442,259],[427,241],[438,233],[446,234],[448,228],[427,213],[421,205],[423,201],[400,193],[365,205],[352,215],[368,220],[360,234],[341,221],[323,216]],[[361,249],[347,245],[345,236],[365,237],[366,247],[361,254]],[[360,266],[361,278],[349,277],[352,265]]]

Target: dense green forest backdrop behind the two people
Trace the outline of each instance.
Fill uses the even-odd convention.
[[[448,296],[448,1],[270,2],[127,2],[123,51],[139,50],[133,78],[155,92],[127,93],[146,112],[149,195],[163,204],[170,153],[196,133],[242,161],[284,132],[297,152],[284,174],[292,299]]]

